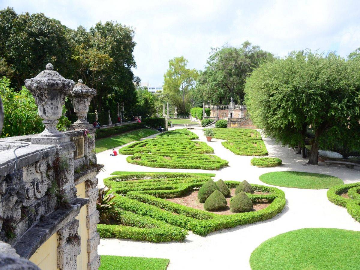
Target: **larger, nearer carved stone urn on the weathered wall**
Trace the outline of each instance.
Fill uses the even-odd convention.
[[[65,98],[74,87],[74,81],[65,79],[52,64],[47,64],[35,78],[25,80],[26,88],[35,98],[39,116],[43,119],[45,130],[31,138],[32,144],[62,144],[70,141],[56,128],[62,116]]]

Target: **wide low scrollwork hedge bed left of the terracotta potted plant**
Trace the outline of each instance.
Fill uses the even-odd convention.
[[[167,131],[154,139],[138,141],[119,150],[129,163],[157,167],[218,170],[227,166],[228,161],[214,155],[214,150],[206,143],[193,141],[198,136],[186,129]]]

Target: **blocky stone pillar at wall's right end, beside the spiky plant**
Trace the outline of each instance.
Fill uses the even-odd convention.
[[[86,228],[88,233],[87,240],[87,269],[97,270],[100,266],[100,256],[98,255],[98,245],[100,244],[100,235],[96,230],[96,226],[99,223],[99,211],[96,210],[96,199],[99,196],[98,179],[85,181],[86,198],[89,199],[89,203],[86,206]]]

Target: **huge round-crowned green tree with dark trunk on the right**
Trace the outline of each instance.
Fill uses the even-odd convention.
[[[285,145],[304,145],[311,126],[314,138],[308,164],[318,163],[320,146],[339,141],[360,143],[360,66],[330,53],[293,52],[253,71],[245,102],[258,128]]]

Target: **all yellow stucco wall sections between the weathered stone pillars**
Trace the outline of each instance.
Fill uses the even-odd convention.
[[[86,198],[85,182],[76,185],[77,197]],[[81,253],[76,258],[77,269],[87,270],[87,228],[86,228],[86,206],[83,206],[76,219],[79,221],[78,234],[81,238]],[[58,270],[57,262],[57,235],[54,233],[44,244],[31,256],[30,261],[42,270]]]

